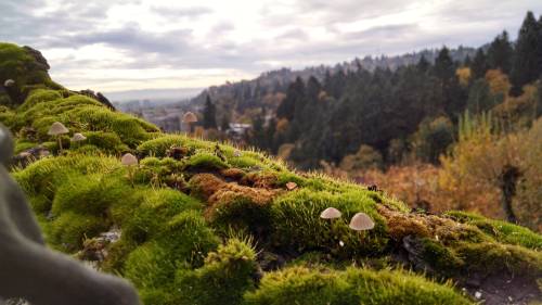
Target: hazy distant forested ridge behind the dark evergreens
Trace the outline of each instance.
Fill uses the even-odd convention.
[[[450,55],[454,61],[463,62],[467,56],[473,58],[476,53],[475,48],[460,47],[452,49]],[[423,50],[420,52],[408,53],[398,56],[365,56],[354,59],[350,62],[337,63],[334,66],[313,66],[304,69],[281,68],[276,71],[264,72],[260,76],[250,80],[228,82],[221,86],[212,86],[203,90],[197,97],[191,100],[193,106],[201,106],[205,103],[207,96],[211,100],[222,105],[224,109],[232,109],[243,112],[247,107],[261,107],[266,104],[264,97],[278,92],[286,92],[289,84],[297,77],[308,80],[313,76],[319,81],[323,81],[326,74],[341,72],[356,72],[361,66],[364,69],[373,72],[376,68],[389,68],[391,71],[398,67],[416,64],[422,56],[429,63],[434,63],[438,55],[438,50]]]

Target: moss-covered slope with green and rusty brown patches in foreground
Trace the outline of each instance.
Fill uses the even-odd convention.
[[[5,50],[15,54],[8,65]],[[0,43],[0,80],[22,79],[24,52]],[[52,152],[13,176],[50,246],[75,254],[119,230],[99,268],[131,280],[147,305],[472,304],[461,288],[473,277],[542,282],[542,237],[528,229],[411,213],[385,193],[296,173],[257,151],[162,134],[44,79],[24,103],[0,106],[18,151]],[[69,129],[63,151],[47,135],[54,122]],[[87,140],[70,142],[74,132]],[[139,165],[120,163],[128,152]],[[330,206],[343,216],[321,219]],[[374,229],[348,227],[359,212]]]

